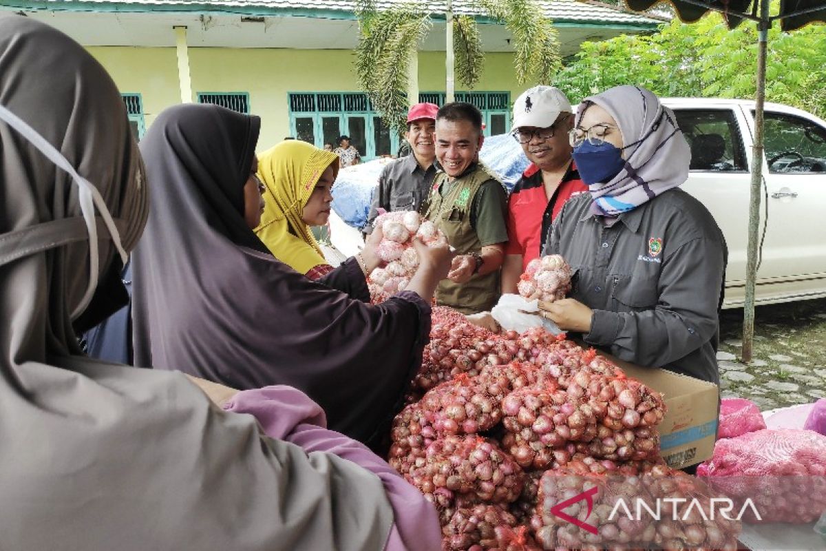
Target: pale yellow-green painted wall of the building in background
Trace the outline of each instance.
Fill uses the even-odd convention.
[[[145,126],[180,102],[174,48],[90,46],[122,93],[140,93]],[[510,92],[513,101],[534,83],[516,83],[513,55],[486,54],[475,91]],[[261,117],[259,151],[290,135],[287,93],[358,92],[352,50],[189,48],[192,93],[249,93],[250,112]],[[419,55],[421,92],[444,92],[444,52]],[[466,89],[457,83],[458,90]],[[194,100],[194,97],[193,97]]]

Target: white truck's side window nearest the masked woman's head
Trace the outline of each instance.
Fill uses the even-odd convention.
[[[691,170],[748,170],[743,139],[730,109],[675,108],[677,124],[691,146]]]

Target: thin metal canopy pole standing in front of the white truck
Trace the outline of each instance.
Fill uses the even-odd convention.
[[[763,176],[763,103],[766,101],[766,50],[769,34],[769,0],[760,1],[757,23],[757,107],[754,109],[751,201],[748,205],[748,253],[746,256],[746,302],[743,305],[743,362],[752,361],[754,336],[754,286],[757,282],[757,243],[760,233],[760,188]]]

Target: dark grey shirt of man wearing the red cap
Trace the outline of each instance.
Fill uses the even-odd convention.
[[[373,220],[377,209],[385,211],[418,211],[425,201],[436,177],[436,167],[431,164],[427,170],[419,166],[414,154],[396,159],[382,169],[378,177],[378,187],[373,192],[373,204],[367,217],[365,233],[373,231]]]

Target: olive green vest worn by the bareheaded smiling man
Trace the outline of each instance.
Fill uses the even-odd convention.
[[[433,189],[425,206],[425,218],[444,232],[448,243],[457,254],[480,252],[482,243],[470,223],[473,198],[479,187],[488,180],[496,179],[482,165],[453,182],[448,182],[444,172],[436,174]],[[439,188],[444,185],[444,195]],[[463,314],[475,314],[490,310],[499,300],[501,286],[499,270],[486,275],[474,274],[468,283],[453,283],[443,279],[436,289],[436,304],[450,306]]]

